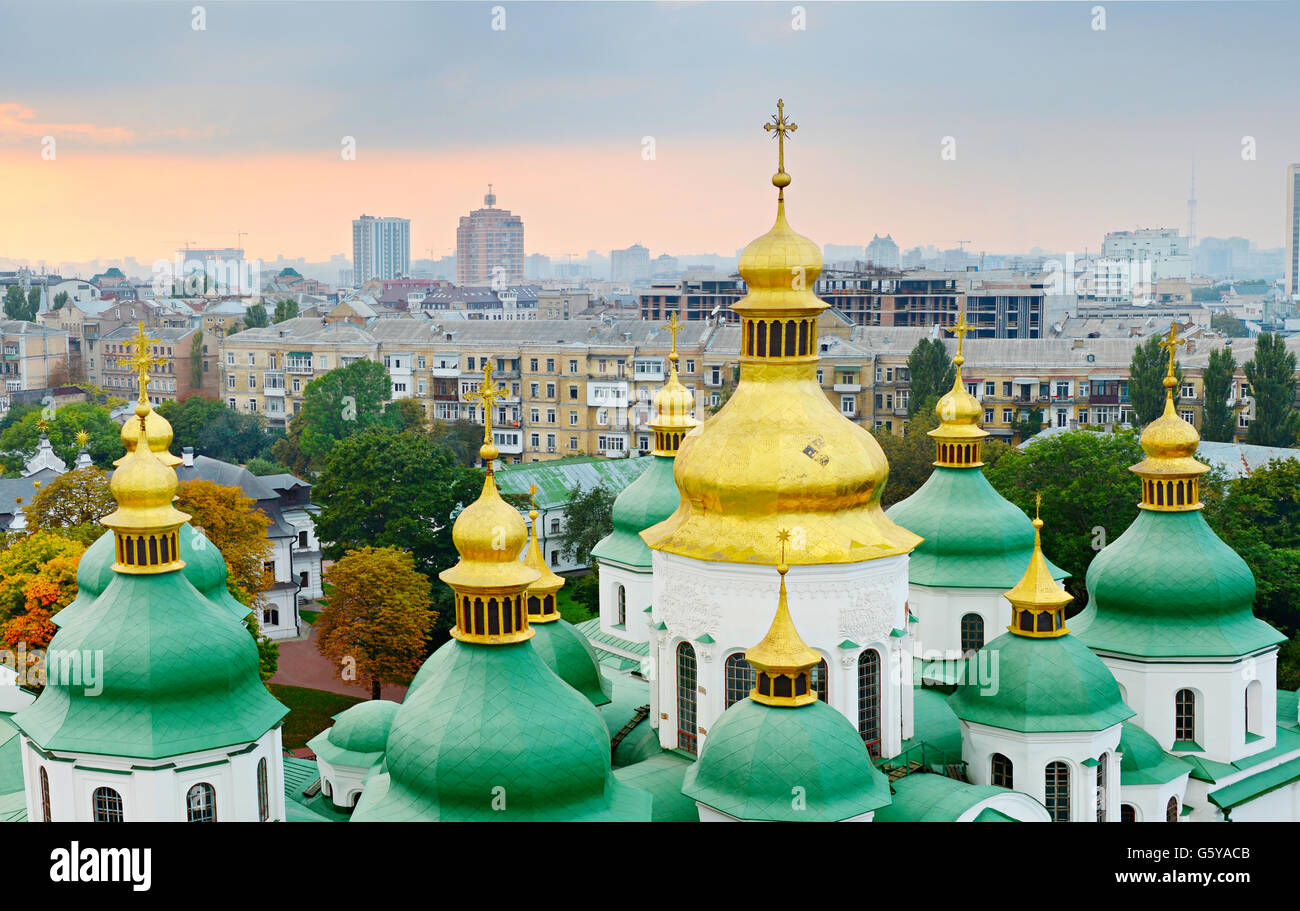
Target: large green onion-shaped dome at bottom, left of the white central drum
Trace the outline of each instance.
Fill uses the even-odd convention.
[[[393,719],[386,772],[354,820],[650,820],[650,795],[611,772],[595,707],[529,641],[454,639],[421,676]]]

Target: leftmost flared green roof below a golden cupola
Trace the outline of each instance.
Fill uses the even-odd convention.
[[[58,613],[51,651],[103,654],[103,691],[49,680],[14,724],[46,750],[160,759],[246,743],[289,711],[263,686],[257,645],[179,572],[114,573]]]

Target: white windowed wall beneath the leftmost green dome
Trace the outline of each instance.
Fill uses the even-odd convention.
[[[49,812],[55,823],[94,821],[96,788],[112,788],[122,798],[127,823],[186,821],[186,793],[195,784],[212,785],[217,821],[256,823],[257,762],[266,760],[268,821],[285,819],[285,767],[281,760],[280,728],[272,728],[243,747],[222,747],[140,760],[86,752],[58,752],[47,759],[27,737],[22,738],[23,781],[27,793],[27,820],[44,820],[40,769],[49,778]],[[156,762],[152,768],[140,768]]]

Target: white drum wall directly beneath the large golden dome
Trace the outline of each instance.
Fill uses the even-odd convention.
[[[725,707],[728,655],[758,645],[776,615],[780,577],[775,567],[710,563],[673,554],[654,555],[653,630],[655,711],[659,742],[677,747],[676,651],[689,642],[697,663],[699,747]],[[803,641],[827,661],[829,704],[857,728],[858,658],[867,647],[881,656],[881,755],[894,756],[911,732],[911,664],[904,660],[907,558],[852,564],[790,567],[785,577],[790,616]],[[712,642],[699,642],[708,635]],[[840,643],[852,641],[853,648]]]

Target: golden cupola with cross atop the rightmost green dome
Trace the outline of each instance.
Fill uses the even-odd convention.
[[[1210,470],[1196,460],[1201,435],[1196,428],[1178,416],[1174,408],[1174,352],[1179,344],[1178,324],[1169,326],[1169,335],[1160,347],[1169,352],[1169,372],[1165,374],[1165,412],[1147,425],[1141,433],[1141,448],[1147,457],[1128,470],[1141,477],[1143,509],[1158,512],[1184,512],[1201,508],[1200,477]]]

